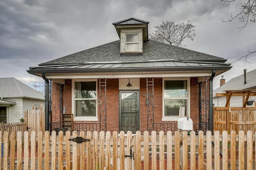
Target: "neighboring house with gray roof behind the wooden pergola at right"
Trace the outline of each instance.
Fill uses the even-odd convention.
[[[215,107],[224,107],[226,104],[226,97],[216,97],[216,93],[226,93],[225,90],[256,90],[256,69],[248,73],[246,73],[246,69],[244,69],[244,74],[239,75],[226,83],[225,79],[222,78],[220,85],[219,88],[213,91],[213,104]],[[256,96],[250,96],[249,101],[250,100],[256,101]],[[230,99],[230,106],[242,107],[243,97],[232,96]]]

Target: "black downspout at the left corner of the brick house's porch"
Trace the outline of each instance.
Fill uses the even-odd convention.
[[[45,77],[45,73],[42,74],[42,78],[45,80],[45,131],[49,129],[49,119],[50,119],[50,94],[49,94],[49,80]]]

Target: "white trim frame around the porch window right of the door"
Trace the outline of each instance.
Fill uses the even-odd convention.
[[[165,116],[164,85],[165,80],[187,80],[187,115],[190,117],[190,77],[169,77],[163,78],[163,117],[162,121],[178,121],[178,116]],[[179,99],[179,98],[177,98]],[[182,98],[183,99],[183,98]]]

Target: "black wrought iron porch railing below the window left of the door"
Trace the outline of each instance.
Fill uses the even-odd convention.
[[[68,131],[100,131],[100,124],[99,123],[61,123],[61,122],[52,122],[51,123],[52,131],[58,128],[67,128]]]

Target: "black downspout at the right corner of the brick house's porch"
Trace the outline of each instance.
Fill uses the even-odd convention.
[[[216,70],[213,70],[210,77],[210,93],[209,93],[209,130],[213,133],[213,78],[216,75]]]

